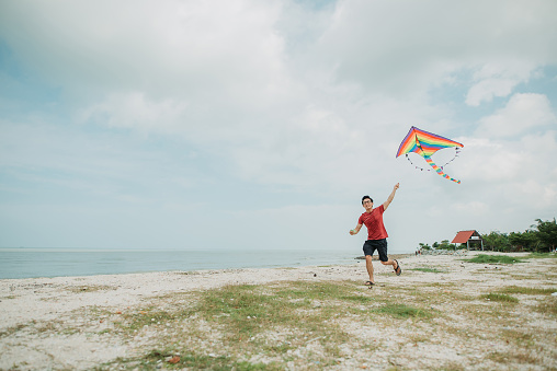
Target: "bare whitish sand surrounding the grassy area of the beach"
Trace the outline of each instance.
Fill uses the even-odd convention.
[[[520,256],[520,254],[514,255]],[[402,275],[399,277],[393,274],[390,266],[382,266],[375,262],[376,281],[379,285],[373,290],[367,290],[362,286],[362,290],[367,290],[366,292],[373,292],[373,294],[388,294],[389,286],[410,288],[421,283],[456,282],[459,293],[465,295],[479,295],[491,289],[496,290],[511,285],[554,288],[557,291],[556,259],[531,259],[528,263],[518,265],[479,265],[464,264],[462,258],[462,256],[446,255],[407,256],[399,259],[402,267]],[[443,273],[412,270],[416,267],[435,267]],[[501,273],[501,275],[497,273]],[[534,276],[532,276],[533,274]],[[525,278],[522,279],[521,275]],[[169,271],[0,280],[0,369],[88,369],[110,362],[117,357],[137,355],[140,343],[130,345],[122,341],[117,336],[103,336],[103,328],[113,327],[111,321],[102,318],[94,323],[90,321],[91,316],[88,314],[99,309],[106,309],[112,313],[126,312],[134,308],[137,309],[155,297],[175,292],[211,290],[225,285],[346,279],[359,280],[363,283],[367,279],[365,263],[355,260],[352,265],[328,267],[228,269],[187,274]],[[528,303],[528,300],[532,303]],[[537,300],[541,299],[521,298],[521,301],[526,303],[523,309],[524,315],[532,316],[530,326],[545,332],[550,339],[555,340],[557,336],[555,316],[547,318],[526,313],[528,305],[534,305]],[[450,304],[447,303],[447,305]],[[440,308],[440,310],[446,311],[447,308]],[[455,318],[455,323],[458,323],[458,317]],[[60,324],[61,326],[80,326],[82,331],[78,333],[60,332]],[[451,339],[447,339],[448,343],[445,345],[442,341],[436,345],[435,341],[433,344],[414,341],[417,346],[406,347],[400,344],[400,337],[408,337],[412,334],[400,335],[396,328],[382,331],[380,327],[365,327],[350,322],[344,323],[343,328],[360,338],[386,337],[387,343],[383,343],[384,346],[390,341],[391,346],[398,347],[399,353],[406,352],[406,356],[400,358],[400,364],[393,363],[387,359],[387,355],[383,360],[375,358],[373,361],[366,362],[365,359],[361,359],[365,356],[351,352],[348,349],[346,352],[351,356],[339,361],[339,369],[366,367],[384,369],[389,364],[409,369],[427,369],[428,364],[435,367],[435,364],[446,363],[451,360],[458,363],[464,356],[468,359],[468,363],[462,362],[466,368],[466,364],[474,364],[470,362],[476,357],[476,352],[479,351],[479,356],[484,357],[481,349],[476,346],[471,347],[473,350],[469,353],[466,353],[466,350],[463,350],[461,355],[457,351],[447,351],[447,346],[452,349],[458,348],[457,344],[451,344],[453,341]],[[463,324],[463,328],[465,331],[466,324]],[[488,329],[486,333],[489,334]],[[504,346],[504,344],[493,343],[493,347],[503,349]],[[534,364],[528,363],[528,367],[541,370],[557,368],[556,343],[546,343],[543,346],[547,350],[544,358],[538,360],[538,364],[536,364],[537,361],[534,361]],[[207,350],[207,352],[211,351],[211,349]],[[442,356],[443,353],[445,356]],[[388,357],[391,359],[393,355]],[[553,359],[550,359],[552,357]],[[433,363],[420,363],[418,359],[430,359],[433,360]],[[390,363],[386,363],[387,361]],[[520,368],[520,363],[518,364]],[[291,368],[297,369],[298,367]]]

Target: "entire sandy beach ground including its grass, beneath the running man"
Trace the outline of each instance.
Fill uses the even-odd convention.
[[[4,279],[0,369],[557,369],[557,259],[478,254]]]

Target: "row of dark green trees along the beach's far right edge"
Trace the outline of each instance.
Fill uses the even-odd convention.
[[[484,240],[484,250],[495,252],[533,252],[548,253],[555,252],[557,247],[557,222],[555,218],[552,220],[536,219],[537,224],[531,225],[524,232],[501,233],[498,231],[481,234]],[[478,243],[474,244],[474,248],[478,248]],[[444,240],[441,243],[433,243],[431,246],[420,243],[422,250],[448,250],[455,246]],[[466,244],[456,246],[456,248],[466,248]],[[479,247],[481,248],[481,247]]]

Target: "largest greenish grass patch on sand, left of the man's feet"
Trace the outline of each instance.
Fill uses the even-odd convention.
[[[297,328],[312,337],[342,340],[346,334],[332,322],[325,324],[323,320],[344,313],[342,309],[373,301],[355,288],[353,282],[304,281],[275,287],[226,286],[200,292],[189,308],[151,306],[124,313],[121,326],[132,334],[146,326],[164,326],[196,317],[219,326],[231,341],[243,341],[276,327]],[[190,297],[190,300],[193,299]]]

